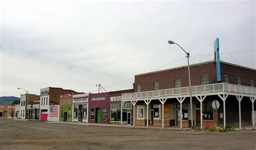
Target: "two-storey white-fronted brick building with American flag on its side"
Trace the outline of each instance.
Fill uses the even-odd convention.
[[[41,91],[41,103],[40,103],[40,114],[39,118],[40,120],[59,120],[59,116],[53,115],[50,117],[51,113],[50,111],[59,112],[59,97],[60,95],[64,94],[83,94],[83,92],[76,92],[74,90],[66,90],[62,88],[43,88]],[[53,107],[54,106],[54,107]],[[57,106],[57,107],[56,107]]]

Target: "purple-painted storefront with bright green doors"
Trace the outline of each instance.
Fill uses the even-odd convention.
[[[109,93],[89,95],[89,123],[109,124]]]

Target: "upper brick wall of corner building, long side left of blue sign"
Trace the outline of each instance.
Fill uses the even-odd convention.
[[[201,65],[191,66],[191,85],[201,85],[201,76],[208,75],[209,82],[216,82],[215,62],[202,63]],[[141,84],[142,91],[153,90],[153,83],[159,82],[159,89],[170,89],[175,87],[175,80],[181,79],[181,87],[188,87],[188,69],[179,67],[177,69],[167,70],[146,75],[136,75],[134,81],[134,92],[137,84]]]

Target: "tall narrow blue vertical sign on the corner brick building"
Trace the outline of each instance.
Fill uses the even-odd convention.
[[[221,74],[220,74],[220,52],[219,52],[219,38],[216,38],[214,42],[214,60],[216,61],[216,70],[217,70],[217,81],[221,81]]]

